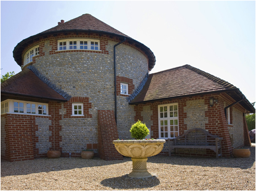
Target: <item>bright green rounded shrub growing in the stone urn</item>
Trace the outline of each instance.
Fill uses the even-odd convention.
[[[134,123],[130,129],[131,137],[137,140],[144,139],[148,134],[150,134],[150,130],[146,127],[145,123],[141,123],[140,120],[137,123]]]

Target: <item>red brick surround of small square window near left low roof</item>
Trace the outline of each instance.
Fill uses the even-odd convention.
[[[72,103],[83,103],[83,115],[84,116],[72,116]],[[66,103],[64,103],[64,110],[66,114],[64,118],[92,118],[92,114],[89,114],[89,109],[92,108],[92,103],[89,103],[89,97],[71,97]]]

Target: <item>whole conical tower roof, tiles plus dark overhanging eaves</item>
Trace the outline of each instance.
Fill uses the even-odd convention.
[[[103,21],[93,17],[90,14],[83,14],[80,17],[74,18],[70,21],[58,24],[57,26],[40,32],[39,34],[30,36],[15,46],[13,50],[13,57],[15,62],[22,66],[22,52],[23,50],[34,43],[35,41],[39,41],[41,37],[47,38],[48,35],[57,35],[57,34],[67,34],[68,32],[94,32],[96,34],[105,34],[111,37],[115,36],[121,40],[126,38],[126,41],[129,43],[134,43],[137,48],[139,48],[142,52],[144,52],[148,58],[148,69],[152,70],[154,64],[156,64],[156,57],[154,57],[153,52],[147,46],[143,45],[143,43],[138,42],[131,37],[123,34],[122,32],[114,29],[113,27],[105,24]]]

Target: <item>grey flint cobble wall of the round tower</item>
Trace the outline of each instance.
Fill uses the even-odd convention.
[[[72,37],[73,39],[76,36]],[[57,39],[56,39],[57,41]],[[45,40],[42,47],[44,56],[35,58],[33,66],[57,88],[72,97],[89,97],[92,118],[65,118],[62,125],[60,146],[63,152],[81,152],[86,149],[84,140],[97,140],[97,111],[114,110],[114,55],[116,41],[106,41],[106,52],[58,52],[54,50],[52,38]],[[55,43],[56,46],[56,43]],[[26,51],[26,50],[25,50]],[[147,57],[136,48],[122,43],[116,47],[116,75],[133,80],[135,89],[148,72]],[[120,84],[117,84],[120,85]],[[65,104],[65,103],[64,103]],[[135,123],[134,106],[130,106],[125,96],[117,97],[118,132],[120,139],[130,138],[130,128]]]

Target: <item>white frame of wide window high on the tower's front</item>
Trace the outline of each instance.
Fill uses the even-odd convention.
[[[74,48],[73,42],[76,41],[76,48]],[[87,45],[84,45],[84,42],[87,41]],[[63,45],[66,42],[66,45]],[[82,45],[81,45],[82,42]],[[92,50],[92,51],[100,51],[100,40],[94,39],[63,39],[58,40],[58,51],[67,51],[67,50]],[[62,43],[62,45],[60,45]],[[72,43],[72,45],[71,45]],[[98,44],[95,46],[95,44]],[[66,49],[63,47],[65,46]],[[84,48],[87,46],[87,49]],[[81,48],[83,47],[83,48]]]

